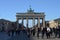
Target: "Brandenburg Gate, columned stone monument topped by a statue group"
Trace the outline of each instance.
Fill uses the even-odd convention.
[[[34,12],[34,10],[32,10],[31,8],[29,10],[27,10],[27,12],[25,13],[16,13],[16,22],[17,22],[17,28],[18,28],[18,22],[19,20],[22,20],[22,24],[23,24],[23,20],[26,19],[26,26],[28,27],[28,19],[32,19],[33,20],[33,26],[35,25],[35,19],[37,19],[37,23],[38,23],[38,27],[40,27],[40,19],[42,19],[42,25],[43,27],[45,27],[45,14],[44,12]]]

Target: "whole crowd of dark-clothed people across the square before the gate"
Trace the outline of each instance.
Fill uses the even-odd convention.
[[[51,38],[51,36],[54,35],[55,38],[60,38],[60,26],[55,27],[55,28],[50,28],[49,26],[46,27],[39,27],[36,31],[35,28],[31,29],[31,28],[12,28],[10,30],[7,30],[7,34],[8,36],[14,36],[15,35],[19,35],[20,32],[23,32],[25,34],[27,34],[28,37],[30,37],[31,35],[34,37],[35,35],[37,35],[37,38],[39,38],[40,36],[42,38],[44,38],[44,36],[46,36],[46,38]],[[37,33],[37,34],[36,34]],[[41,35],[39,35],[41,34]]]

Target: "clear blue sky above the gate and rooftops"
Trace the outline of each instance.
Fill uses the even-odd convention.
[[[44,12],[45,20],[60,17],[60,0],[0,0],[0,19],[16,21],[16,13],[27,12],[29,5],[35,12]]]

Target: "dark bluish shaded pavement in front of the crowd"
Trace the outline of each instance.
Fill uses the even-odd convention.
[[[0,40],[30,40],[27,35],[20,32],[20,35],[8,36],[5,32],[0,32]]]

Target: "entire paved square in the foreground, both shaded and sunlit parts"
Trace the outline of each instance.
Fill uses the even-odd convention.
[[[60,38],[54,38],[54,36],[52,36],[51,38],[47,39],[46,36],[44,36],[44,38],[41,38],[41,34],[40,37],[37,38],[37,36],[32,36],[30,38],[27,37],[27,35],[23,32],[20,32],[20,35],[14,35],[14,36],[8,36],[6,32],[0,32],[0,40],[60,40]]]

